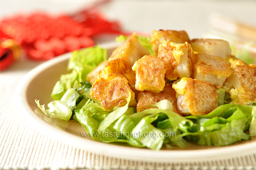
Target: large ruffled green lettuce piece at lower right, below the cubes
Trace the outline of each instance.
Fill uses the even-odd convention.
[[[250,139],[244,133],[251,120],[254,106],[221,105],[208,115],[187,116],[188,119],[197,119],[199,130],[195,133],[183,133],[187,139],[196,141],[200,145],[223,146],[241,140]]]

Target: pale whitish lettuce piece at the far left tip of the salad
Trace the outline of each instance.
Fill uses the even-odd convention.
[[[51,118],[59,118],[68,121],[72,115],[72,111],[67,103],[61,100],[50,102],[47,105],[49,108],[47,110],[45,110],[44,105],[40,105],[39,100],[35,100],[35,103],[45,115]]]

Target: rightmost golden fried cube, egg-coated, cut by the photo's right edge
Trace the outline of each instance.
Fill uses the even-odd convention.
[[[224,83],[230,92],[231,104],[250,105],[256,102],[256,65],[235,65],[234,73]]]

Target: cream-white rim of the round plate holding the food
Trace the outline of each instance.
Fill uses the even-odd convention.
[[[117,43],[106,43],[100,45],[102,48],[117,47]],[[113,156],[116,158],[141,160],[141,161],[157,161],[157,162],[195,162],[195,161],[207,161],[212,159],[224,159],[232,156],[242,156],[256,152],[256,141],[251,141],[244,144],[207,148],[201,150],[150,150],[146,148],[127,147],[115,144],[108,144],[104,142],[93,141],[85,139],[45,122],[39,116],[37,116],[26,102],[26,89],[37,74],[44,71],[46,68],[52,65],[62,62],[70,57],[71,52],[62,54],[58,57],[50,59],[42,64],[36,66],[29,71],[17,84],[15,88],[14,98],[21,113],[26,117],[26,122],[32,127],[35,127],[39,132],[50,136],[52,139],[58,140],[69,144],[70,146],[84,149],[87,151]],[[76,144],[74,144],[76,141]],[[237,149],[239,147],[239,150]],[[253,150],[254,148],[254,150]]]

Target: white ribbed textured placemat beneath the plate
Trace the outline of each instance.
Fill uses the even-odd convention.
[[[21,60],[0,73],[0,169],[256,169],[256,154],[189,164],[159,164],[116,159],[51,139],[27,124],[13,97],[19,80],[38,64]]]

